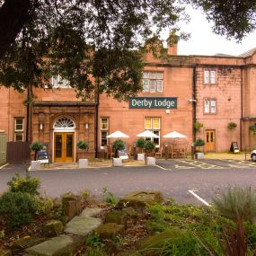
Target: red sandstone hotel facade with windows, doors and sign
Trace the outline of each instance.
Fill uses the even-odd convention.
[[[157,146],[172,143],[163,135],[180,132],[189,151],[199,137],[205,152],[229,151],[232,142],[241,150],[256,145],[249,129],[256,123],[256,49],[238,57],[178,56],[177,46],[167,50],[168,61],[145,56],[143,92],[129,102],[105,94],[97,102],[82,102],[55,75],[53,89],[33,89],[36,99],[28,110],[26,91],[1,86],[0,145],[40,140],[49,148],[50,162],[75,162],[78,140],[89,143],[89,157],[102,156],[113,141],[107,136],[116,130],[129,136],[127,145],[146,129],[159,136],[152,138]],[[195,130],[195,123],[202,127]],[[230,123],[236,127],[229,129]]]

